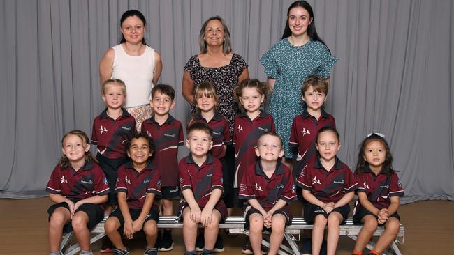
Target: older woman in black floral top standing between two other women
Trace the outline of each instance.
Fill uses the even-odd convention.
[[[201,82],[212,82],[219,96],[218,111],[228,121],[233,135],[233,118],[240,113],[233,98],[233,88],[238,82],[249,79],[247,64],[233,52],[230,32],[226,22],[219,17],[210,17],[200,29],[200,53],[189,59],[184,66],[182,93],[195,112],[193,91]]]

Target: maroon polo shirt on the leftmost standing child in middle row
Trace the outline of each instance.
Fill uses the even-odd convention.
[[[136,120],[125,109],[117,120],[110,118],[105,109],[94,118],[91,144],[98,147],[98,153],[110,159],[126,157],[124,143],[129,134],[136,132]]]

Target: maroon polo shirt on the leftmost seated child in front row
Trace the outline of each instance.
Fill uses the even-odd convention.
[[[64,168],[57,164],[45,190],[76,202],[91,196],[108,194],[109,185],[103,170],[95,162],[85,163],[79,171],[75,171],[71,164]]]

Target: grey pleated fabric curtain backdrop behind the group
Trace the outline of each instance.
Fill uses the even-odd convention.
[[[0,197],[45,194],[61,136],[75,128],[91,134],[103,109],[98,61],[117,44],[124,10],[147,17],[147,42],[162,54],[161,82],[177,90],[172,114],[185,122],[182,72],[198,52],[202,22],[224,17],[234,52],[251,77],[265,80],[258,59],[281,37],[291,2],[1,0]],[[309,2],[318,33],[340,59],[326,104],[342,136],[339,157],[353,167],[363,137],[381,132],[404,202],[453,200],[453,2]]]

